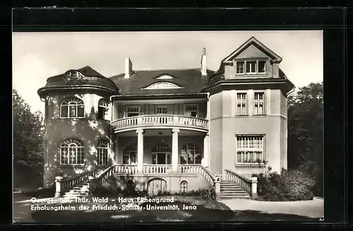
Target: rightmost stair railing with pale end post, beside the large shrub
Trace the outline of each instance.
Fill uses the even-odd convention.
[[[240,185],[242,188],[246,190],[249,194],[251,194],[252,199],[256,199],[257,197],[257,177],[251,177],[248,179],[244,177],[244,175],[240,175],[239,173],[235,173],[232,170],[225,170],[225,180],[229,180],[231,182]]]

